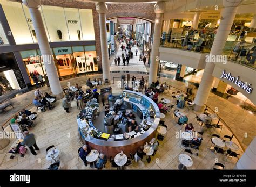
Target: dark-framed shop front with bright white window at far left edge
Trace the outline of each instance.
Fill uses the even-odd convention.
[[[0,96],[26,88],[14,53],[0,54]]]

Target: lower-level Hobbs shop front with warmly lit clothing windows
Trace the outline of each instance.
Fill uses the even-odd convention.
[[[96,47],[72,46],[52,48],[52,56],[60,78],[98,71]],[[32,85],[34,75],[46,74],[44,59],[39,49],[22,51],[21,56]]]

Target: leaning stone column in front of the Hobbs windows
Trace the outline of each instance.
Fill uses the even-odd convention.
[[[55,95],[58,99],[60,99],[63,97],[62,87],[60,86],[57,69],[53,61],[51,48],[47,39],[43,20],[39,11],[41,1],[40,0],[33,0],[33,1],[22,0],[22,2],[29,8],[29,12],[32,18],[33,26],[36,31],[39,49],[42,54],[44,67],[49,79],[52,94]]]

